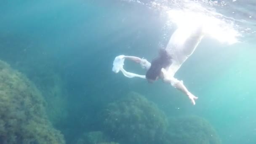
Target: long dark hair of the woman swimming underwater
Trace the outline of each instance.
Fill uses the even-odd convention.
[[[160,49],[159,56],[153,59],[151,67],[146,73],[146,78],[149,80],[156,80],[160,75],[161,69],[168,67],[171,64],[171,56],[164,49]]]

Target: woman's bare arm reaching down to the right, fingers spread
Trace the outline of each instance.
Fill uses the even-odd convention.
[[[163,72],[163,81],[165,83],[169,83],[171,84],[173,87],[179,89],[180,91],[182,91],[184,94],[186,94],[189,99],[191,100],[192,104],[195,105],[195,100],[198,99],[198,97],[194,96],[192,93],[190,93],[187,88],[185,87],[185,85],[183,84],[182,80],[177,80],[174,77],[168,77],[167,72],[165,69],[162,69]]]

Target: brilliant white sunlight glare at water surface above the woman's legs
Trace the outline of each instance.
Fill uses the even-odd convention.
[[[178,27],[192,28],[201,23],[204,24],[204,32],[221,43],[234,44],[238,42],[239,32],[233,29],[233,25],[213,16],[186,10],[170,10],[167,12],[172,23]]]

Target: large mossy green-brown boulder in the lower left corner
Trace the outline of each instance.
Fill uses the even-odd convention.
[[[64,144],[45,112],[45,101],[26,76],[0,61],[0,143]]]

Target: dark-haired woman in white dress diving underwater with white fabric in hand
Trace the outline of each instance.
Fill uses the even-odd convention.
[[[149,83],[161,79],[163,82],[171,84],[173,87],[182,91],[188,96],[192,104],[195,105],[195,100],[198,98],[187,90],[182,80],[174,78],[174,75],[187,58],[195,51],[203,36],[202,25],[193,27],[193,29],[191,27],[179,27],[171,36],[166,48],[161,49],[159,56],[152,60],[151,63],[146,59],[141,59],[136,56],[120,55],[115,58],[112,71],[115,73],[121,71],[126,77],[146,78]],[[125,59],[141,64],[142,68],[147,69],[146,75],[126,72],[123,69]]]

